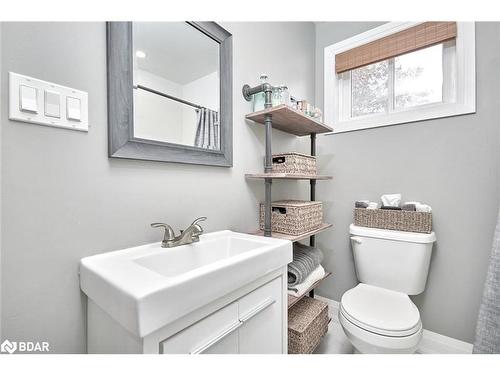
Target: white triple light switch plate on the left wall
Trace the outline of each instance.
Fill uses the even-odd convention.
[[[24,109],[25,103],[20,99],[21,90],[25,90],[22,86],[37,90],[34,102],[30,105],[26,102],[27,108],[36,108],[36,112]],[[73,113],[72,109],[68,112],[66,108],[68,97],[80,101],[79,116],[68,115],[70,112]],[[57,103],[59,103],[59,110],[57,110]],[[70,119],[72,116],[79,117],[79,119]],[[86,132],[89,129],[88,94],[85,91],[9,72],[9,119]]]

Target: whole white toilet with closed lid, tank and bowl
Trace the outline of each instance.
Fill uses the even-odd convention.
[[[349,227],[359,284],[339,307],[342,328],[359,353],[414,353],[422,338],[410,295],[425,289],[436,241],[429,234]]]

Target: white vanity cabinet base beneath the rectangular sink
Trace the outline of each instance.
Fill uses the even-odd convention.
[[[287,352],[286,267],[147,335],[134,337],[89,300],[89,353]]]

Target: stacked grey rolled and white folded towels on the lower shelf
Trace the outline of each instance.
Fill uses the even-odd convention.
[[[288,264],[288,294],[303,295],[316,281],[325,276],[320,249],[295,242],[293,261]]]

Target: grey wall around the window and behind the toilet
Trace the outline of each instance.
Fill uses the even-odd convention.
[[[377,26],[316,25],[316,101],[323,103],[323,48]],[[500,23],[476,24],[477,113],[319,137],[318,183],[334,229],[319,236],[334,277],[318,293],[340,300],[356,284],[348,226],[357,199],[400,192],[433,207],[426,291],[415,297],[424,327],[472,342],[500,200]]]

